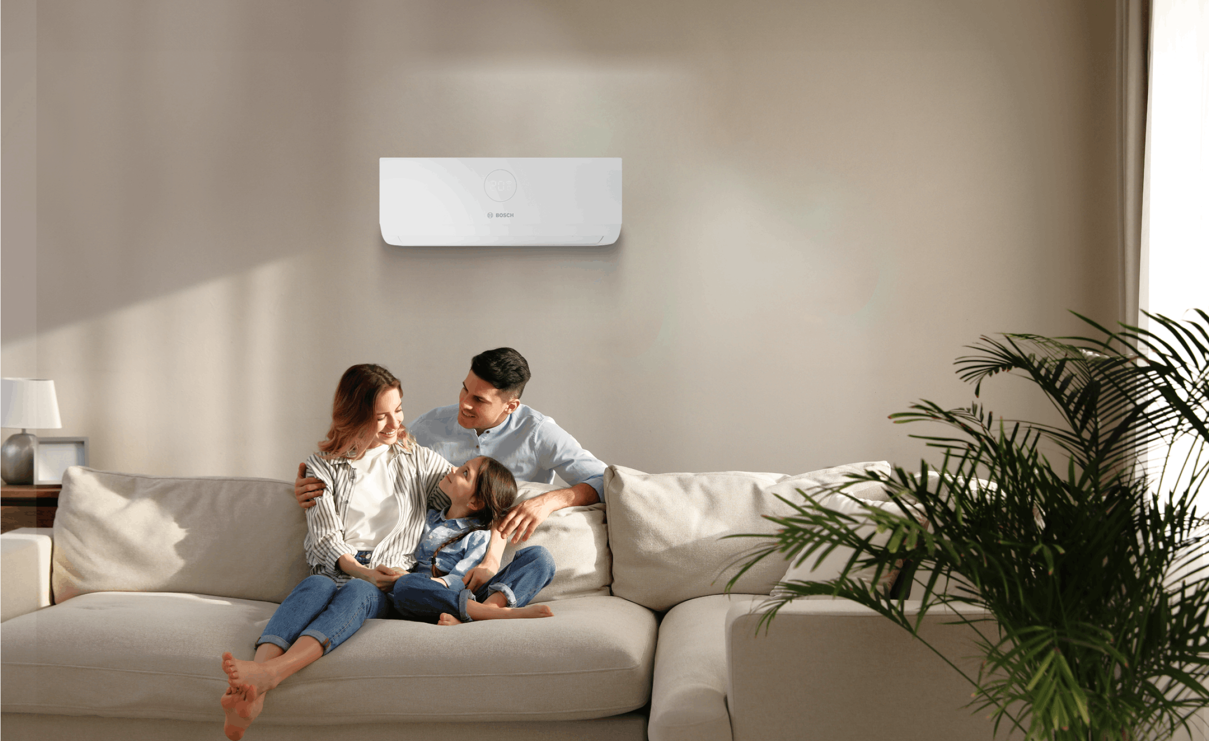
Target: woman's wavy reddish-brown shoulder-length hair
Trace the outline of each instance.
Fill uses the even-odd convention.
[[[319,442],[325,458],[360,458],[374,444],[377,435],[375,407],[378,396],[387,389],[403,386],[391,371],[381,365],[363,363],[345,371],[336,386],[336,398],[331,403],[331,428],[328,439]],[[411,450],[407,428],[399,427],[399,442]]]

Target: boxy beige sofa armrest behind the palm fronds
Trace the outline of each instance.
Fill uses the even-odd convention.
[[[760,604],[735,604],[727,614],[734,741],[993,737],[987,713],[962,707],[971,684],[875,612],[848,600],[798,600],[757,632]],[[919,601],[908,601],[912,607],[918,612]],[[983,615],[965,606],[961,612]],[[920,635],[976,677],[973,630],[947,625],[954,619],[950,609],[932,609]],[[994,631],[984,625],[983,632]],[[1008,730],[1005,722],[999,737],[1016,737]]]

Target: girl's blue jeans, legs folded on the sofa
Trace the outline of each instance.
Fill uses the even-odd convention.
[[[499,569],[498,574],[475,592],[445,586],[433,581],[428,572],[418,572],[399,577],[391,590],[391,602],[409,620],[436,623],[441,613],[450,613],[463,623],[470,623],[470,615],[465,614],[468,601],[482,602],[491,592],[503,592],[508,607],[525,607],[551,579],[554,558],[550,551],[540,545],[531,545],[516,551],[513,562]]]

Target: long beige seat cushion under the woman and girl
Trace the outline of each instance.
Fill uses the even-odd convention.
[[[214,720],[220,656],[251,659],[276,604],[93,592],[4,624],[4,712]],[[368,620],[265,701],[259,724],[601,718],[650,691],[654,615],[618,597],[553,618],[436,626]],[[368,701],[372,699],[372,701]]]

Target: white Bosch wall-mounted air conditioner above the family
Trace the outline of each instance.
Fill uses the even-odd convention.
[[[378,221],[399,247],[613,244],[620,157],[382,157]]]

